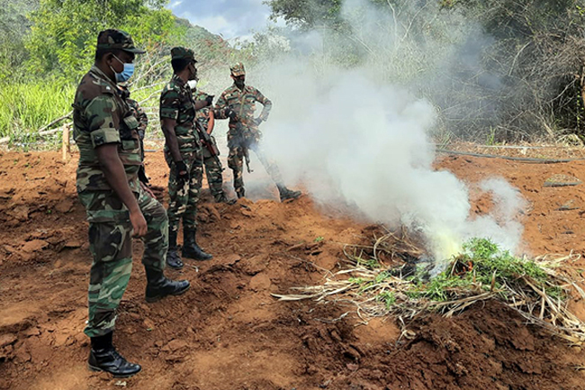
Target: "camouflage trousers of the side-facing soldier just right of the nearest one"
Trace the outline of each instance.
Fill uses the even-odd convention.
[[[189,179],[181,181],[176,177],[175,162],[165,154],[166,164],[171,169],[168,175],[168,225],[171,231],[179,230],[179,222],[183,219],[184,229],[197,227],[197,203],[203,179],[202,150],[183,155],[184,164],[189,172]]]

